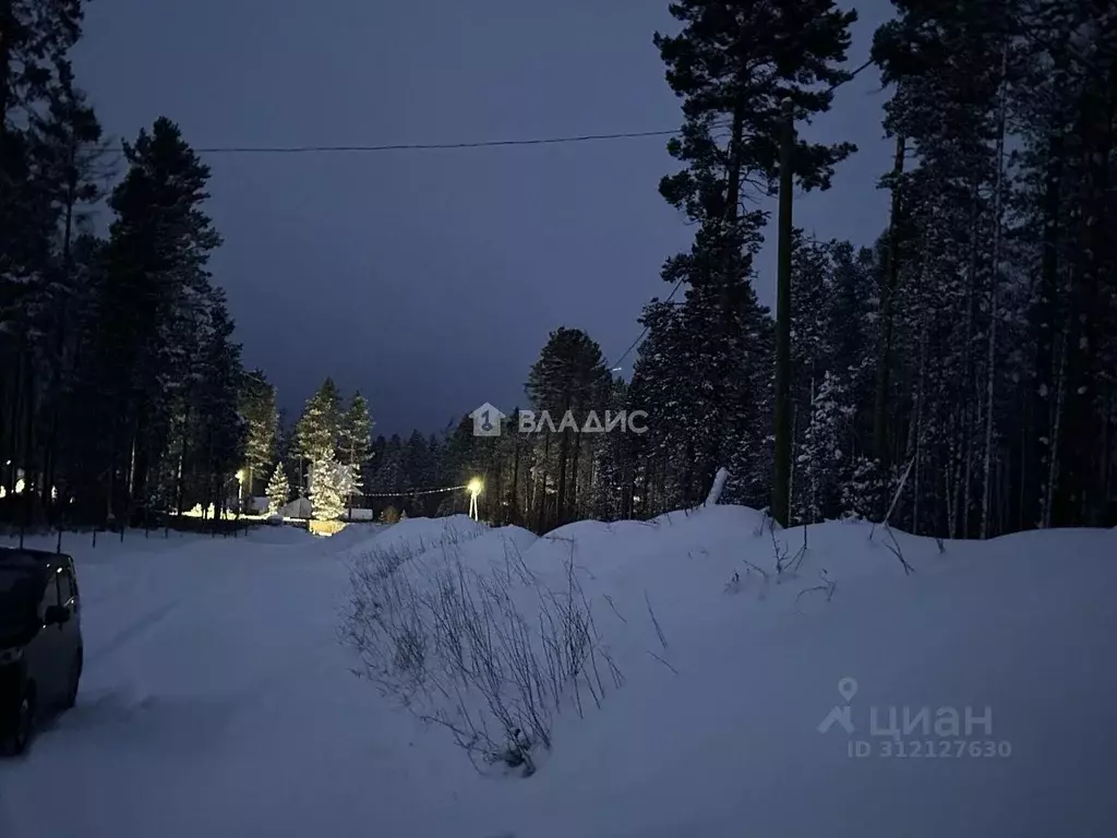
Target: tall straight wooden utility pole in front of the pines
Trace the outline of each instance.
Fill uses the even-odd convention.
[[[787,526],[791,512],[791,191],[795,116],[784,98],[780,132],[780,255],[775,297],[775,486],[772,517]]]

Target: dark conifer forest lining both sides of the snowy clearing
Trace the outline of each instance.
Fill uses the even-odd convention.
[[[888,225],[871,247],[794,234],[790,523],[891,510],[892,525],[944,537],[1113,526],[1117,10],[894,6],[872,46],[895,150],[878,166]],[[208,270],[209,170],[168,118],[123,160],[108,147],[70,65],[82,7],[0,0],[0,517],[103,524],[220,505],[238,473],[262,489],[277,463],[298,486],[298,435],[276,427],[264,373],[242,368]],[[372,442],[365,492],[433,514],[462,499],[409,493],[479,475],[488,518],[546,531],[694,505],[724,466],[723,501],[768,506],[775,347],[753,288],[757,199],[779,182],[783,102],[805,121],[857,69],[855,13],[829,0],[670,8],[678,28],[655,44],[682,125],[660,193],[693,246],[663,265],[630,380],[560,328],[522,406],[642,410],[648,432],[525,435],[513,416],[484,438],[462,420]],[[796,189],[829,188],[853,153],[800,139]]]

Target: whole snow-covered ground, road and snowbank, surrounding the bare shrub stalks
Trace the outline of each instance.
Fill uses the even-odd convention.
[[[421,581],[448,532],[479,572],[573,558],[624,676],[563,710],[528,779],[480,775],[338,641],[350,563],[405,550]],[[86,675],[0,762],[0,836],[1117,835],[1117,531],[897,534],[908,575],[879,528],[830,523],[779,582],[803,532],[775,535],[717,506],[544,539],[464,517],[67,536]]]

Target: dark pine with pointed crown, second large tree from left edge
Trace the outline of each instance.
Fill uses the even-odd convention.
[[[206,269],[221,240],[201,210],[209,169],[178,126],[162,117],[124,151],[131,165],[109,200],[116,220],[96,294],[90,370],[101,393],[96,420],[108,440],[107,488],[117,517],[134,498],[142,504],[149,478],[157,477],[174,416],[206,374],[192,369],[194,359],[220,356],[216,345],[207,345],[207,332],[220,333],[219,342],[231,333]],[[219,378],[231,389],[236,415],[239,371],[232,379],[226,372]]]

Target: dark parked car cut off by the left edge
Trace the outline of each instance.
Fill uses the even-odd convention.
[[[77,703],[83,663],[73,556],[0,547],[0,747],[23,753],[46,711]]]

